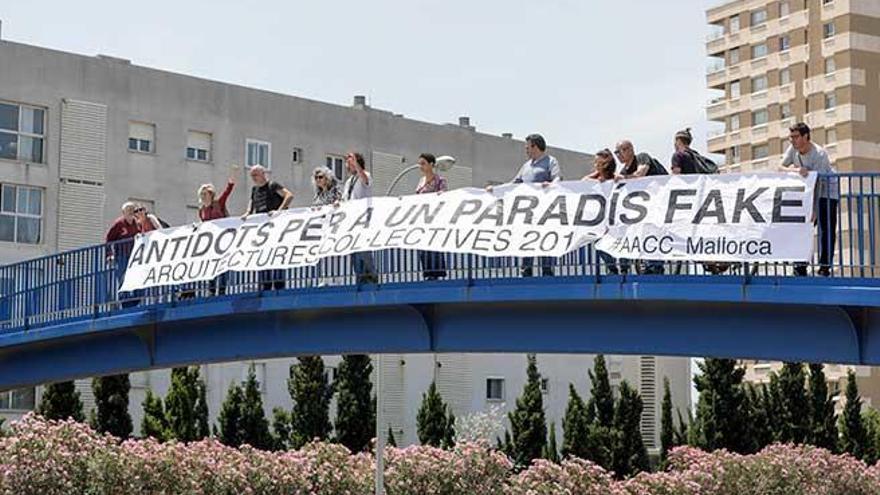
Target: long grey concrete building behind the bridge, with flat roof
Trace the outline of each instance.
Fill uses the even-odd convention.
[[[546,136],[552,144],[552,136]],[[199,184],[221,185],[227,165],[262,164],[295,194],[312,199],[311,172],[328,166],[344,176],[342,156],[363,153],[375,191],[421,152],[457,158],[450,187],[506,182],[525,160],[523,142],[477,132],[468,118],[432,124],[372,108],[363,97],[341,106],[140,67],[128,60],[82,56],[0,41],[0,262],[100,243],[123,202],[146,204],[171,224],[196,219]],[[583,176],[591,157],[551,147],[568,178]],[[247,171],[229,209],[246,206]],[[414,189],[411,175],[396,193]],[[552,323],[552,320],[548,320]],[[548,417],[561,428],[569,382],[588,395],[592,356],[539,356],[547,379]],[[662,379],[676,406],[689,407],[685,358],[610,357],[615,386],[627,379],[645,398],[643,430],[659,446]],[[328,357],[333,373],[339,357]],[[294,359],[254,363],[267,413],[289,408],[289,368]],[[401,443],[417,441],[415,415],[421,394],[437,379],[456,415],[493,402],[512,408],[525,381],[525,359],[509,355],[396,355],[384,360],[382,400]],[[233,383],[250,363],[201,367],[212,421]],[[131,412],[139,428],[147,389],[164,395],[169,372],[131,376]],[[86,407],[88,381],[77,383]],[[0,415],[15,417],[39,401],[39,388],[0,392]],[[560,430],[561,433],[561,430]]]

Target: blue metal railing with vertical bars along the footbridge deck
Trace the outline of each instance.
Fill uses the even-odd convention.
[[[833,230],[833,260],[820,263],[819,249],[809,264],[673,262],[664,265],[664,275],[785,277],[795,274],[827,275],[834,278],[880,278],[880,174],[840,174],[820,181],[839,193],[836,214],[822,218],[823,228]],[[817,236],[818,237],[818,236]],[[38,329],[69,321],[106,317],[132,308],[191,304],[209,297],[234,297],[264,291],[266,280],[257,272],[233,272],[223,282],[157,287],[134,293],[117,293],[124,276],[123,260],[131,240],[90,246],[0,267],[0,332]],[[821,242],[817,238],[817,244]],[[113,256],[109,256],[113,254]],[[372,254],[378,284],[422,282],[424,276],[417,251],[386,250]],[[521,258],[488,258],[470,254],[443,254],[446,276],[442,280],[479,281],[514,279],[524,268]],[[557,277],[593,277],[607,280],[622,265],[609,265],[596,256],[593,246],[552,260]],[[540,260],[532,270],[541,275]],[[639,276],[640,263],[632,263],[620,277]],[[339,290],[357,287],[357,277],[348,256],[328,258],[317,266],[279,270],[281,290]],[[616,279],[611,279],[616,280]],[[431,283],[431,282],[425,282]],[[853,280],[854,285],[858,282]]]

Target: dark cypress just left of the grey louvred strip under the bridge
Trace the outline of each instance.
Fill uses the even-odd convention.
[[[648,469],[648,451],[642,442],[642,398],[624,380],[620,384],[620,398],[614,408],[613,453],[614,473],[627,478]]]

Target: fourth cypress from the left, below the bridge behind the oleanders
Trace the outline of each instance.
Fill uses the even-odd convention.
[[[171,388],[165,397],[168,434],[181,442],[193,442],[207,436],[208,408],[199,368],[171,370]]]

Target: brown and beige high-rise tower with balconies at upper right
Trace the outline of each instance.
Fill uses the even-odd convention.
[[[788,127],[812,129],[841,172],[880,169],[880,2],[733,0],[706,12],[715,63],[708,150],[725,169],[779,164]]]

